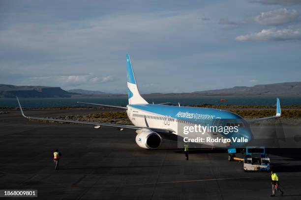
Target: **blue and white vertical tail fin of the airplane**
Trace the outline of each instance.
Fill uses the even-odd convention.
[[[141,97],[139,93],[129,55],[126,55],[126,75],[128,104],[149,104],[145,99]]]

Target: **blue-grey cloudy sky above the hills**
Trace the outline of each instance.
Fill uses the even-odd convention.
[[[301,81],[301,0],[1,0],[0,84],[126,94]]]

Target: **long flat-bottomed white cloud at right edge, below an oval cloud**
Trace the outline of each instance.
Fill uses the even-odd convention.
[[[258,33],[251,33],[236,37],[237,41],[267,41],[267,40],[300,40],[301,29],[263,29]]]

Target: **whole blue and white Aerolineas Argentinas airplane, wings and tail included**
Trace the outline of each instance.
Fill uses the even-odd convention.
[[[72,120],[60,120],[54,118],[39,118],[28,117],[24,114],[20,101],[18,100],[21,113],[24,117],[34,120],[46,120],[76,124],[93,125],[95,128],[101,126],[118,127],[120,130],[124,128],[134,129],[137,133],[136,143],[139,147],[144,149],[157,149],[161,145],[162,138],[172,140],[182,140],[184,137],[183,126],[193,125],[216,125],[216,126],[229,126],[235,125],[238,127],[237,132],[224,134],[219,131],[204,131],[203,136],[211,138],[230,138],[230,137],[242,137],[246,138],[248,142],[252,139],[253,134],[249,127],[250,123],[258,122],[262,120],[274,119],[281,116],[281,109],[279,99],[276,99],[276,115],[266,118],[259,118],[253,120],[244,120],[241,116],[219,109],[212,108],[199,108],[188,106],[174,106],[162,104],[151,104],[143,99],[139,93],[137,81],[133,72],[133,67],[129,55],[126,55],[126,70],[127,70],[127,93],[128,93],[128,105],[126,107],[105,105],[97,103],[85,103],[98,106],[108,106],[124,109],[127,112],[127,116],[133,125],[117,125],[106,124],[96,122],[82,122]],[[184,141],[185,142],[185,141]],[[235,142],[202,142],[203,145],[216,147],[216,148],[236,148],[240,144]]]

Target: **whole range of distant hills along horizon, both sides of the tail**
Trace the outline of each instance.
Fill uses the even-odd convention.
[[[301,82],[273,83],[253,87],[236,86],[219,90],[197,91],[192,93],[152,93],[142,95],[145,98],[197,98],[201,96],[293,96],[301,95]],[[104,93],[82,89],[62,90],[60,87],[15,86],[0,84],[0,98],[126,98],[125,94]]]

